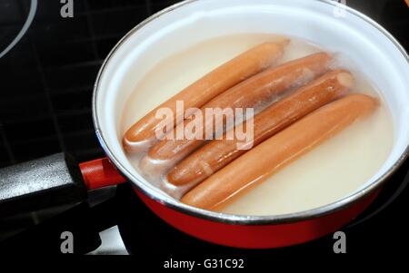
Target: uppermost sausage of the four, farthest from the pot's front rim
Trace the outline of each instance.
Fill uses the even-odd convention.
[[[177,101],[185,102],[186,108],[201,107],[216,95],[271,66],[284,54],[284,47],[288,43],[289,40],[284,39],[279,43],[259,44],[217,67],[211,73],[207,73],[203,78],[146,114],[144,118],[125,132],[123,138],[125,151],[145,151],[157,141],[156,127],[161,122],[155,118],[158,109],[171,109],[175,113],[174,120],[166,122],[174,125],[176,121],[180,120],[180,117],[176,116],[178,114],[176,113]]]

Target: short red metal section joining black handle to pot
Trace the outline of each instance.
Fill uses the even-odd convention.
[[[113,186],[126,181],[108,158],[81,163],[79,168],[88,190]]]

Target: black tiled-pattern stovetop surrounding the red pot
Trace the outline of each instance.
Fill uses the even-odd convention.
[[[58,151],[73,154],[77,161],[103,156],[95,138],[91,113],[96,73],[106,54],[127,31],[147,16],[176,2],[179,1],[75,0],[74,17],[62,18],[60,1],[38,1],[35,19],[27,33],[0,59],[0,167]],[[25,23],[30,3],[29,0],[0,0],[0,53]],[[409,8],[404,0],[348,0],[346,4],[373,17],[406,49],[409,48]],[[407,170],[406,162],[372,210],[390,199]],[[38,239],[36,249],[41,245],[43,248],[40,249],[50,251],[46,243],[49,234],[65,227],[70,219],[70,224],[84,235],[84,245],[77,246],[82,252],[91,251],[99,244],[98,231],[118,225],[127,249],[139,256],[146,253],[165,256],[237,254],[268,258],[271,254],[284,256],[310,250],[332,253],[333,239],[330,236],[302,246],[264,251],[207,244],[157,219],[128,188],[127,185],[119,187],[114,197],[103,199],[92,208],[80,204],[67,210],[64,217],[60,215],[59,219],[52,218],[51,223],[47,222],[45,229],[37,230],[38,225],[23,216],[0,219],[0,234],[30,227],[25,233],[8,239],[0,249],[21,248],[35,237]],[[346,228],[350,252],[376,251],[384,246],[394,249],[407,243],[408,239],[401,237],[408,228],[403,219],[404,208],[408,206],[407,196],[408,192],[404,190],[373,219]],[[2,237],[5,236],[0,239]],[[50,246],[54,243],[50,239]],[[51,249],[55,250],[54,247]],[[195,249],[194,253],[192,249]]]

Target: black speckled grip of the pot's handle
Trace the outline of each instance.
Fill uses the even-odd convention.
[[[0,169],[0,215],[41,210],[86,199],[75,160],[57,153]]]

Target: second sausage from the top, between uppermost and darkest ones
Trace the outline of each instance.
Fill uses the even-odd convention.
[[[332,57],[329,54],[318,53],[269,68],[243,83],[235,85],[206,103],[200,109],[201,115],[206,115],[206,109],[233,109],[234,111],[236,108],[254,108],[260,103],[268,102],[274,95],[312,81],[316,76],[328,70],[331,60]],[[192,123],[195,123],[195,120],[185,120],[185,128],[194,126]],[[141,161],[141,169],[146,172],[157,172],[159,171],[158,166],[161,166],[160,169],[168,170],[172,167],[168,165],[175,165],[178,161],[181,161],[186,155],[195,151],[204,143],[205,136],[213,134],[215,128],[222,127],[216,124],[214,116],[204,123],[202,126],[204,128],[203,134],[198,138],[184,138],[182,140],[174,138],[159,141]]]

